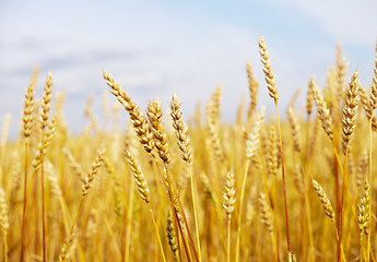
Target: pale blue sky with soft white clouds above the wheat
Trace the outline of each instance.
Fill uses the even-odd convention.
[[[54,93],[66,92],[64,116],[72,132],[87,121],[84,107],[103,121],[103,93],[116,103],[102,79],[109,71],[144,110],[158,96],[168,109],[177,93],[184,116],[204,107],[223,85],[222,118],[234,121],[241,99],[249,102],[245,64],[259,82],[259,106],[273,112],[258,52],[263,35],[278,82],[279,108],[285,112],[296,92],[304,106],[307,82],[320,86],[342,44],[350,74],[372,82],[377,39],[377,1],[208,0],[208,1],[20,1],[0,0],[0,124],[12,115],[20,128],[24,93],[39,67],[36,96],[47,71]],[[125,117],[126,112],[121,112]]]

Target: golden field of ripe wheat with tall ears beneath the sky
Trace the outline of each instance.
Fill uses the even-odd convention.
[[[338,46],[326,86],[309,79],[305,110],[292,94],[285,114],[258,44],[261,63],[246,63],[249,99],[232,124],[221,85],[205,108],[182,112],[177,95],[138,105],[103,70],[114,128],[89,103],[90,124],[72,134],[54,72],[40,80],[34,69],[16,139],[9,117],[2,126],[1,260],[376,261],[377,57],[362,86]],[[271,100],[259,105],[264,92]]]

